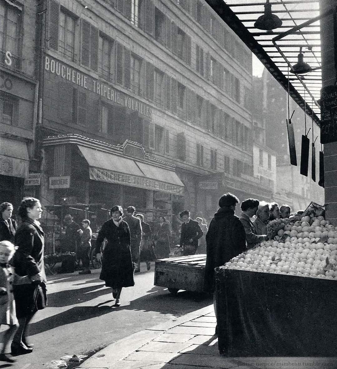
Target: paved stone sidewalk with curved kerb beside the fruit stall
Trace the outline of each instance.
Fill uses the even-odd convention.
[[[336,358],[227,358],[219,354],[213,305],[108,345],[80,369],[336,369]]]

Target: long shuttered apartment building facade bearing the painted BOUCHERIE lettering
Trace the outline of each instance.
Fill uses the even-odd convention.
[[[45,198],[156,217],[271,194],[253,177],[251,53],[204,1],[48,4]]]

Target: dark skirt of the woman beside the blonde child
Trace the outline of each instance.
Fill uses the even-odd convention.
[[[34,300],[35,290],[36,285],[32,283],[13,286],[17,318],[26,318],[38,311],[38,299],[41,299],[41,294],[38,293]]]

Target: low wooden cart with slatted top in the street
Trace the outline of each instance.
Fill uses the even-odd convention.
[[[178,290],[202,292],[205,264],[205,254],[156,260],[154,285],[167,287],[171,293]]]

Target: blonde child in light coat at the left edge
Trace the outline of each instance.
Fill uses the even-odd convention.
[[[0,242],[0,324],[7,324],[9,328],[4,332],[4,342],[0,353],[0,361],[13,363],[15,360],[9,358],[6,354],[6,347],[13,338],[19,327],[15,314],[15,301],[12,282],[14,279],[14,270],[8,265],[8,261],[14,255],[14,245],[9,241]]]

